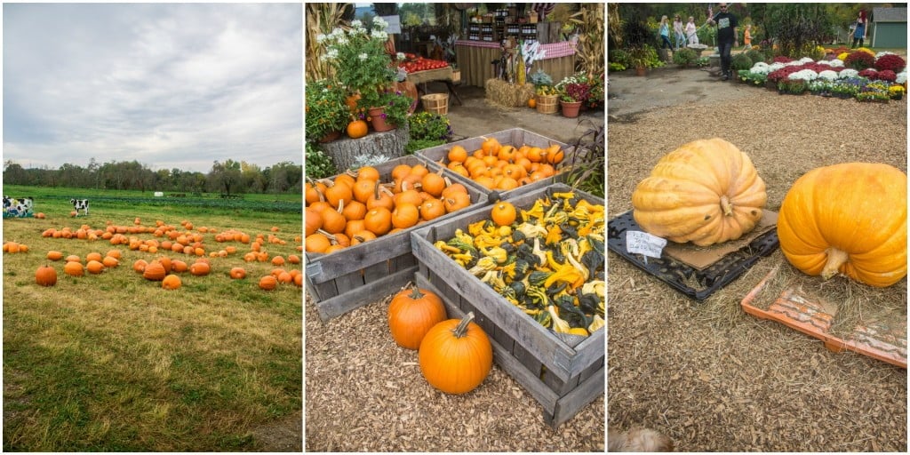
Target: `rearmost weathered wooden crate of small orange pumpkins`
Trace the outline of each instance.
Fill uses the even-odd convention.
[[[563,172],[556,174],[553,177],[544,178],[537,182],[534,182],[534,183],[531,183],[528,185],[523,185],[521,187],[517,187],[517,188],[509,190],[509,191],[501,191],[501,192],[498,191],[497,193],[499,194],[499,197],[501,199],[515,197],[518,195],[529,193],[531,191],[539,190],[541,188],[549,187],[554,183],[564,181],[565,180],[565,174],[564,174],[565,167],[569,166],[569,163],[571,163],[571,157],[575,153],[574,147],[569,147],[564,142],[560,142],[558,140],[551,139],[549,137],[541,136],[536,133],[531,133],[531,131],[528,131],[525,129],[511,128],[511,129],[499,131],[497,133],[490,133],[489,135],[485,135],[485,136],[470,137],[468,139],[463,139],[463,140],[456,141],[456,142],[450,142],[449,144],[443,144],[443,145],[437,146],[437,147],[425,148],[425,149],[417,152],[417,155],[419,157],[424,158],[426,161],[429,162],[428,166],[430,167],[430,170],[438,171],[440,168],[440,161],[442,162],[442,166],[446,166],[449,164],[448,155],[449,155],[449,150],[451,147],[454,147],[454,146],[464,147],[464,149],[468,150],[468,153],[470,154],[474,150],[477,150],[478,148],[480,148],[480,144],[484,141],[485,137],[493,137],[496,140],[498,140],[500,142],[500,144],[502,144],[502,145],[508,144],[508,145],[514,146],[516,148],[521,147],[522,145],[528,145],[531,147],[549,147],[549,146],[551,146],[551,144],[559,144],[560,147],[562,148],[562,151],[564,152],[564,157],[562,158],[562,162],[557,166],[557,170],[562,170]],[[488,197],[490,196],[490,193],[493,192],[489,188],[483,187],[479,183],[471,180],[470,178],[463,177],[460,174],[452,172],[448,169],[446,171],[446,175],[450,176],[450,178],[452,178],[452,181],[457,181],[460,184],[464,185],[465,187],[472,187],[472,188],[482,192],[483,194],[487,195]]]

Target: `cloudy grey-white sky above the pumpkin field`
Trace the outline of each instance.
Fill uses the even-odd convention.
[[[3,160],[302,162],[299,4],[4,4]]]

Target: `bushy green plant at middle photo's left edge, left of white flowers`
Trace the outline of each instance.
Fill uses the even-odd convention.
[[[346,90],[338,82],[319,80],[307,84],[304,130],[308,141],[330,142],[348,126],[350,109]]]

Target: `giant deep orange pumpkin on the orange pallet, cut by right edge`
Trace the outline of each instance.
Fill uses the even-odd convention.
[[[777,237],[804,273],[838,272],[884,288],[907,274],[907,176],[885,164],[844,163],[799,177],[784,197]]]

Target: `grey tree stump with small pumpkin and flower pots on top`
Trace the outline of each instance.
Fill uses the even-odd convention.
[[[344,136],[339,140],[323,144],[322,149],[329,157],[332,157],[335,167],[339,171],[343,171],[367,165],[376,166],[403,156],[409,137],[408,125],[405,123],[404,126],[383,133],[371,131],[369,135],[359,139]]]

